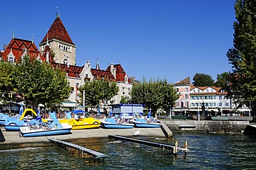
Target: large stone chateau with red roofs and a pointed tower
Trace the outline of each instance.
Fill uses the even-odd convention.
[[[64,27],[60,15],[57,14],[51,28],[46,32],[42,42],[39,43],[39,50],[37,50],[33,39],[31,41],[17,39],[13,34],[10,43],[5,45],[3,52],[0,53],[0,59],[16,63],[28,54],[34,59],[51,63],[53,67],[59,67],[66,72],[72,92],[68,101],[62,103],[63,107],[77,107],[78,101],[82,100],[78,97],[78,87],[84,85],[86,81],[97,79],[116,82],[119,92],[112,99],[113,103],[120,103],[122,97],[129,98],[129,92],[132,87],[131,79],[120,63],[111,63],[106,70],[100,70],[98,62],[95,69],[91,67],[90,61],[87,61],[83,66],[77,66],[75,50],[76,45]],[[105,104],[102,103],[102,105]]]

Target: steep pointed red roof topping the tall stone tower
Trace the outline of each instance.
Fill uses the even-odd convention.
[[[41,43],[46,42],[47,34],[48,34],[49,40],[57,39],[65,43],[75,45],[71,40],[71,37],[68,35],[68,32],[66,31],[66,28],[64,27],[64,24],[62,23],[62,20],[60,19],[60,17],[56,17],[55,21],[51,25],[51,28],[48,30],[48,32],[44,36],[44,39],[42,40]]]

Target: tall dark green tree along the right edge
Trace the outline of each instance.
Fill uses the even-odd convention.
[[[235,2],[233,47],[227,52],[232,65],[229,98],[237,107],[247,105],[255,118],[256,109],[256,1]]]

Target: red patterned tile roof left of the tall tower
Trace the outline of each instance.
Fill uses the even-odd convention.
[[[3,52],[3,60],[8,60],[8,54],[10,54],[10,51],[12,50],[12,54],[15,55],[15,62],[17,62],[21,58],[25,49],[30,57],[33,57],[34,59],[37,58],[37,56],[41,57],[41,54],[39,53],[39,50],[37,50],[35,43],[24,39],[14,38],[10,41],[6,50]]]

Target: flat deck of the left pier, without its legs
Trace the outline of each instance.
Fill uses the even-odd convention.
[[[100,152],[98,152],[98,151],[94,151],[94,150],[92,150],[92,149],[88,149],[88,148],[86,148],[86,147],[82,147],[82,146],[80,146],[80,145],[75,145],[75,144],[73,144],[73,143],[70,143],[70,142],[65,142],[65,141],[63,141],[63,140],[57,140],[57,139],[49,139],[51,142],[57,142],[57,143],[61,143],[61,144],[63,144],[63,145],[66,145],[66,146],[68,146],[68,147],[73,147],[74,149],[78,149],[78,150],[80,150],[80,151],[84,151],[84,152],[86,152],[86,153],[88,153],[88,154],[90,154],[90,155],[93,155],[93,156],[95,156],[95,158],[104,158],[104,157],[107,157],[104,153],[100,153]]]

